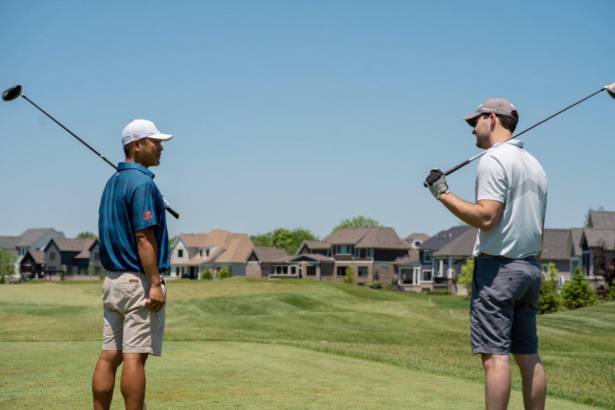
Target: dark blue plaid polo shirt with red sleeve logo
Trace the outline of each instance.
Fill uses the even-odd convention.
[[[98,232],[100,262],[106,270],[143,270],[135,232],[153,226],[158,269],[170,266],[169,234],[164,200],[154,174],[135,162],[120,162],[100,199]]]

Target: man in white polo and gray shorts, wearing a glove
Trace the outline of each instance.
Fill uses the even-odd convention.
[[[491,149],[476,171],[476,202],[448,190],[435,168],[429,190],[455,216],[477,227],[470,306],[472,353],[485,367],[488,410],[506,409],[510,396],[512,353],[522,376],[525,409],[544,409],[546,375],[538,356],[536,313],[547,208],[547,177],[523,142],[510,140],[518,113],[503,98],[490,98],[463,117],[474,128],[478,148]],[[435,181],[429,184],[430,181]]]

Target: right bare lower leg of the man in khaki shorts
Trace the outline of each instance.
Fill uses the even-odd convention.
[[[141,410],[145,402],[145,361],[148,353],[124,353],[120,387],[126,410]]]

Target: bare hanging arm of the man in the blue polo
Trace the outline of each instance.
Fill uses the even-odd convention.
[[[137,251],[145,274],[148,276],[151,288],[149,290],[149,309],[158,312],[164,306],[164,294],[158,271],[158,256],[156,251],[156,235],[154,228],[147,227],[135,232]]]

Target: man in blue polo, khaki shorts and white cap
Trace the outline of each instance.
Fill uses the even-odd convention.
[[[160,164],[162,134],[134,120],[122,132],[125,162],[105,186],[98,211],[103,282],[103,349],[92,377],[95,410],[108,410],[117,367],[125,408],[145,408],[145,361],[162,354],[169,235],[164,200],[149,167]]]

